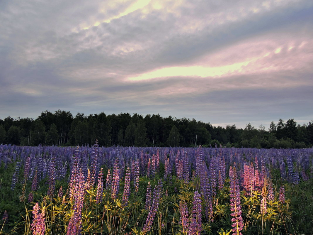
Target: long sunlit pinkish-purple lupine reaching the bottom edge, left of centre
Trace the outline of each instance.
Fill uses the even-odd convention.
[[[82,209],[84,206],[85,178],[80,168],[75,179],[73,215],[69,220],[67,235],[79,235],[82,230]]]

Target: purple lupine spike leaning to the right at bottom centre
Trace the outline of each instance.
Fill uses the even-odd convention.
[[[160,181],[161,180],[159,180],[158,185],[155,185],[154,189],[153,189],[152,204],[151,204],[146,222],[145,222],[144,226],[142,227],[143,234],[146,234],[148,231],[150,231],[154,217],[155,217],[156,212],[157,212],[157,209],[159,208],[159,201],[160,201],[161,190],[162,190],[162,188],[160,187],[160,185],[162,185],[162,183],[160,183]]]

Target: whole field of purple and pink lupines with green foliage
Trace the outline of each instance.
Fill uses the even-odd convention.
[[[0,234],[313,234],[312,157],[0,145]]]

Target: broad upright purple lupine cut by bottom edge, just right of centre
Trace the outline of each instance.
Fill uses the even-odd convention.
[[[192,206],[192,219],[189,225],[188,235],[200,235],[202,230],[202,222],[201,222],[201,199],[200,193],[195,191],[193,196],[193,206]]]

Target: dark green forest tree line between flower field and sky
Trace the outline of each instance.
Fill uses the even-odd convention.
[[[228,125],[214,127],[196,119],[161,117],[127,113],[84,115],[66,111],[41,112],[38,118],[0,119],[0,144],[62,145],[92,144],[98,138],[100,146],[181,146],[204,147],[215,143],[225,147],[305,148],[313,144],[313,121],[297,124],[295,120],[272,122],[268,130]]]

